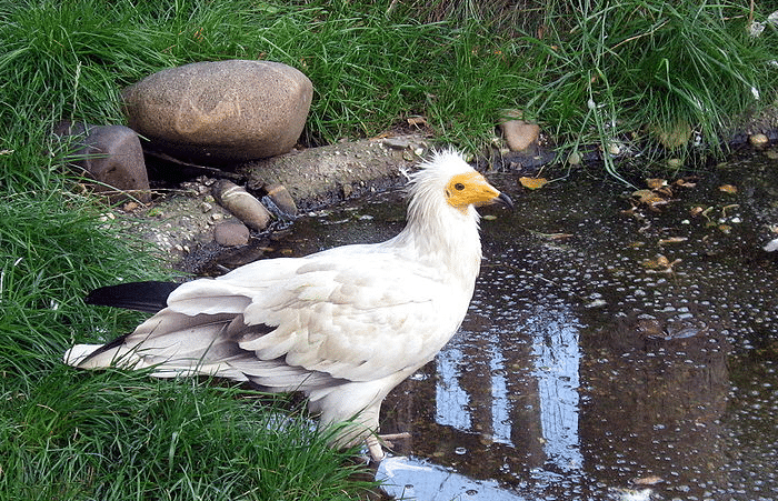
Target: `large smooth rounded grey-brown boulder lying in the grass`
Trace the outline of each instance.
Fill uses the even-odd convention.
[[[122,92],[129,126],[178,158],[225,164],[290,151],[313,86],[270,61],[197,62],[153,73]]]

